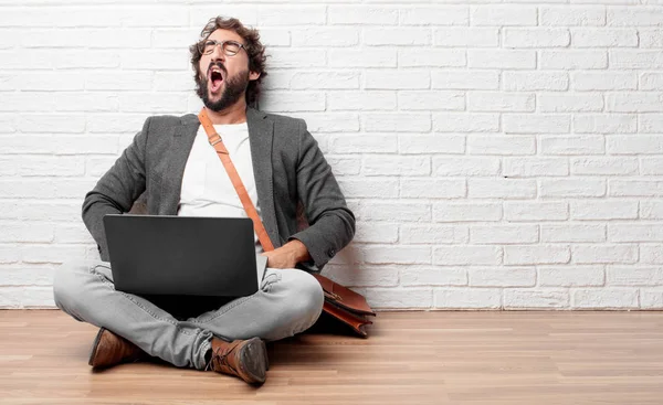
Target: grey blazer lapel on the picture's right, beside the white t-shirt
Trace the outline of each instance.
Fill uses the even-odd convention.
[[[251,159],[253,160],[253,175],[255,177],[260,211],[272,244],[274,244],[274,247],[280,247],[281,238],[278,237],[278,225],[274,210],[274,182],[272,178],[274,125],[266,118],[267,116],[264,113],[254,108],[246,110]]]

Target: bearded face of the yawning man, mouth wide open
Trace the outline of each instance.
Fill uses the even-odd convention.
[[[208,38],[217,42],[243,40],[233,31],[217,30]],[[241,49],[229,56],[222,46],[215,46],[209,55],[202,55],[199,62],[200,75],[197,78],[197,93],[204,106],[213,111],[223,110],[244,99],[249,81],[255,81],[260,74],[249,72],[249,55]]]

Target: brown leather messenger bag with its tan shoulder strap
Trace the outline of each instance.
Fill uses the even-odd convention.
[[[230,160],[230,156],[225,149],[225,146],[223,145],[223,141],[221,140],[221,136],[217,134],[217,130],[208,117],[204,107],[198,114],[198,119],[204,128],[210,145],[217,150],[217,154],[219,156],[219,159],[221,159],[221,162],[228,172],[228,177],[230,178],[232,185],[240,196],[240,201],[242,202],[246,214],[251,220],[253,220],[253,228],[263,249],[265,252],[273,251],[274,245],[272,244],[272,241],[270,241],[267,231],[260,220],[257,211],[255,210],[253,202],[251,202],[251,198],[249,196],[249,193],[246,192],[246,189],[240,179],[240,174],[235,170],[232,160]],[[325,276],[320,276],[319,274],[312,275],[318,280],[323,287],[323,291],[325,292],[323,311],[334,319],[350,327],[360,337],[367,338],[368,333],[366,332],[366,326],[371,324],[372,322],[366,317],[375,317],[376,313],[370,309],[368,302],[366,302],[366,298]]]

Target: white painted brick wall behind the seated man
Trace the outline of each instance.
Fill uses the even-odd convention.
[[[326,273],[375,307],[663,309],[655,1],[88,3],[0,0],[0,307],[96,257],[85,192],[148,116],[199,109],[187,46],[224,13],[357,215]]]

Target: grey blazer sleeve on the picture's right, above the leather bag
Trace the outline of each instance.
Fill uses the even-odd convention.
[[[301,241],[315,266],[322,269],[355,236],[355,215],[304,120],[299,120],[298,132],[297,194],[311,226],[288,241]]]

